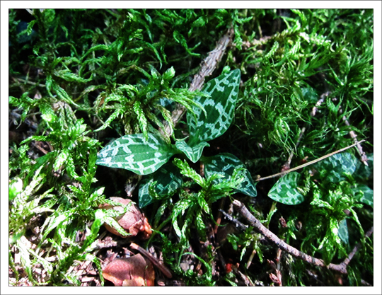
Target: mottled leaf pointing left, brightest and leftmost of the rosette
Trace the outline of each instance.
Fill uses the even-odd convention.
[[[112,141],[98,153],[96,164],[127,169],[139,175],[153,173],[176,151],[154,134],[148,137],[145,141],[143,134],[132,134]]]

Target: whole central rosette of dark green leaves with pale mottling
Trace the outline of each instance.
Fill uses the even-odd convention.
[[[153,202],[151,195],[157,197],[173,195],[183,184],[178,168],[173,163],[167,163],[175,154],[185,154],[193,163],[202,157],[207,141],[220,137],[233,120],[241,72],[239,69],[212,79],[204,86],[205,96],[197,96],[192,112],[187,112],[187,126],[190,136],[177,139],[175,144],[169,144],[156,134],[131,134],[112,141],[99,153],[97,164],[112,168],[124,168],[143,178],[139,188],[139,206],[144,207]],[[219,174],[214,180],[219,183],[232,177],[235,169],[241,170],[241,185],[237,192],[255,197],[255,183],[244,164],[231,154],[219,154],[212,157],[202,157],[205,176]],[[166,164],[167,163],[167,164]],[[165,165],[166,164],[166,165]],[[150,190],[154,187],[154,192]]]

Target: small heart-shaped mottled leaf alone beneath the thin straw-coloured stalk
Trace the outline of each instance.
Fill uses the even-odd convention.
[[[296,205],[303,202],[304,197],[297,190],[297,181],[300,174],[291,172],[277,180],[277,183],[268,192],[268,197],[274,201],[287,205]]]

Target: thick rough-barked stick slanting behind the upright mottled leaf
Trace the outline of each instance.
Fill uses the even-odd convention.
[[[192,80],[190,91],[202,90],[204,79],[207,76],[210,76],[212,72],[216,69],[216,66],[221,61],[228,44],[231,42],[233,36],[233,29],[229,29],[226,35],[221,37],[217,42],[214,50],[209,52],[208,56],[200,64],[201,68],[197,74],[195,74],[194,79]],[[174,126],[178,124],[180,118],[185,112],[185,107],[178,104],[177,108],[171,113],[171,119],[173,120]],[[166,134],[170,135],[170,126],[166,124]]]

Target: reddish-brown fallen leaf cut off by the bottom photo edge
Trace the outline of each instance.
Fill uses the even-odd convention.
[[[115,286],[154,286],[154,267],[142,255],[117,258],[103,270],[103,277]]]

